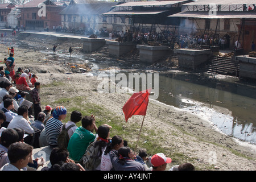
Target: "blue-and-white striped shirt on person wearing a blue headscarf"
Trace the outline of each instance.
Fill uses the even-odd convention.
[[[57,138],[63,123],[59,119],[50,118],[46,123],[46,140],[49,145],[57,146]]]

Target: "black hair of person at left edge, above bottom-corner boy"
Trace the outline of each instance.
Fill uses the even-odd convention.
[[[10,144],[18,142],[19,134],[14,129],[6,129],[2,131],[1,144],[8,148]]]

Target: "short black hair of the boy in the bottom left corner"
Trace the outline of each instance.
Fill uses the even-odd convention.
[[[8,158],[10,163],[16,163],[20,159],[26,159],[26,156],[30,155],[33,147],[27,143],[16,142],[10,144],[8,148]]]

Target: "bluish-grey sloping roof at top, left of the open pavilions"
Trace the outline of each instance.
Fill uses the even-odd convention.
[[[69,5],[60,14],[67,15],[100,15],[110,11],[116,2],[88,3]]]

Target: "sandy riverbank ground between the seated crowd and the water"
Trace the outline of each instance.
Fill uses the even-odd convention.
[[[6,46],[1,44],[0,47],[0,55],[3,59],[7,54]],[[134,116],[125,123],[122,106],[130,98],[130,94],[98,93],[96,90],[100,80],[97,80],[97,77],[71,73],[68,67],[54,61],[40,61],[44,60],[46,55],[39,51],[30,52],[26,49],[16,48],[15,55],[17,56],[15,70],[18,67],[30,68],[43,85],[51,84],[53,81],[65,82],[65,85],[54,90],[41,89],[40,94],[44,103],[52,104],[59,98],[81,96],[86,98],[86,102],[101,105],[111,114],[122,117],[123,121],[121,122],[123,122],[124,128],[141,125],[141,116]],[[44,106],[42,105],[42,107]],[[108,124],[111,125],[111,122]],[[204,119],[173,106],[150,100],[142,132],[147,134],[147,131],[150,130],[154,130],[157,134],[150,137],[158,140],[163,148],[170,150],[170,153],[166,154],[167,156],[172,158],[174,153],[188,156],[193,159],[193,165],[201,170],[255,171],[256,169],[255,146],[238,142],[238,140],[218,132],[211,123]],[[133,134],[126,138],[130,142],[136,142],[137,135]],[[171,166],[172,164],[169,164],[167,168]]]

